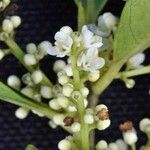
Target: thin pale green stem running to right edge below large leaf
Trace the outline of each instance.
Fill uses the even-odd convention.
[[[148,73],[150,73],[150,66],[138,68],[131,71],[119,72],[116,78],[122,78],[122,77],[128,78],[128,77],[133,77],[133,76],[138,76],[138,75],[148,74]]]

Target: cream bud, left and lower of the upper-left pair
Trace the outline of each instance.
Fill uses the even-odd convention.
[[[13,23],[10,20],[5,19],[2,23],[2,29],[4,32],[11,33],[14,29]]]

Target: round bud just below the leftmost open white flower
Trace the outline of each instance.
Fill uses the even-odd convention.
[[[57,60],[54,63],[53,70],[57,73],[66,67],[66,63],[63,60]]]

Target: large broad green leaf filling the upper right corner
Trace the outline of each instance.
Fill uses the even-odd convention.
[[[150,0],[128,0],[114,41],[114,60],[128,59],[150,47]]]

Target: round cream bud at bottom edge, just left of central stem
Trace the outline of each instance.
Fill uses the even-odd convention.
[[[71,150],[71,147],[72,147],[71,143],[67,139],[61,140],[58,143],[58,149],[59,150]]]

